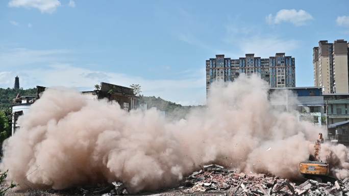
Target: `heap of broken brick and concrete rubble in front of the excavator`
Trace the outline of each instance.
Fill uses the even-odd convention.
[[[348,195],[349,180],[335,184],[307,180],[296,185],[287,179],[264,174],[229,171],[217,164],[204,165],[181,182],[184,191],[226,191],[228,195]]]

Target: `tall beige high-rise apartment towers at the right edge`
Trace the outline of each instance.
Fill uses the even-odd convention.
[[[349,93],[348,47],[344,40],[321,40],[313,48],[314,86],[324,94]]]

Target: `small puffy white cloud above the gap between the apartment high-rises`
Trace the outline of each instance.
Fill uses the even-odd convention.
[[[291,22],[295,26],[302,26],[307,23],[309,20],[313,20],[313,16],[311,16],[308,12],[304,10],[280,10],[276,16],[269,14],[265,17],[266,22],[268,24],[280,24],[282,22]]]

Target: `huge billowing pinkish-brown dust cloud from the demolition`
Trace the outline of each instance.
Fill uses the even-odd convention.
[[[216,85],[206,108],[169,121],[156,109],[126,111],[72,90],[46,90],[4,144],[1,170],[22,188],[122,181],[133,191],[176,184],[203,164],[297,178],[319,132],[270,104],[258,76]],[[282,100],[282,99],[281,99]],[[288,100],[289,102],[292,100]],[[295,100],[294,100],[295,101]],[[292,104],[291,104],[292,105]],[[348,150],[323,148],[348,176]]]

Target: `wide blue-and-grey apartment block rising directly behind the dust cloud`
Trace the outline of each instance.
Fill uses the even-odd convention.
[[[216,58],[206,60],[206,92],[215,81],[234,81],[240,74],[250,76],[253,73],[267,81],[270,88],[295,87],[294,58],[285,53],[276,53],[268,59],[255,57],[255,54],[245,54],[239,59],[217,54]]]

